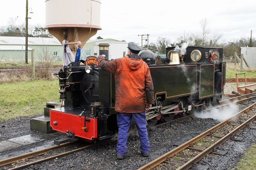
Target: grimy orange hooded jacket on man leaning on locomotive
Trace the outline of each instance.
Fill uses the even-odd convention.
[[[98,57],[99,66],[115,75],[115,111],[140,113],[145,111],[145,94],[148,104],[154,103],[154,87],[150,69],[142,59],[128,56],[112,61]]]

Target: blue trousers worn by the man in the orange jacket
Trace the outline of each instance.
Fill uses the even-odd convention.
[[[142,153],[150,152],[150,142],[147,137],[145,112],[117,113],[118,140],[116,145],[117,155],[125,155],[127,151],[127,138],[130,124],[134,118],[140,136],[140,149]]]

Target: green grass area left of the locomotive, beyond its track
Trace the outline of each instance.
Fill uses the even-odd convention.
[[[42,114],[47,102],[58,102],[58,80],[0,84],[0,119]]]

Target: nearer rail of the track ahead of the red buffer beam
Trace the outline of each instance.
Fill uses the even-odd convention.
[[[51,159],[54,159],[54,158],[57,158],[57,157],[60,157],[60,156],[68,155],[68,154],[71,154],[73,152],[77,152],[77,151],[92,147],[93,145],[95,145],[95,144],[90,144],[90,145],[87,145],[85,147],[81,147],[81,148],[78,148],[78,149],[75,149],[75,150],[72,150],[72,151],[64,152],[64,153],[54,155],[54,156],[51,156],[51,157],[48,157],[48,158],[40,159],[40,160],[30,162],[30,163],[27,163],[27,164],[24,164],[24,165],[13,167],[13,168],[10,168],[10,169],[20,169],[20,168],[28,167],[28,166],[36,164],[36,163],[44,162],[44,161],[47,161],[47,160],[51,160]]]

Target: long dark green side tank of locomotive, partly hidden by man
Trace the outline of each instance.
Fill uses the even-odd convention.
[[[155,96],[164,94],[166,99],[196,92],[197,65],[161,65],[150,67]],[[177,78],[178,77],[178,78]],[[115,107],[115,80],[112,75],[112,107]]]

